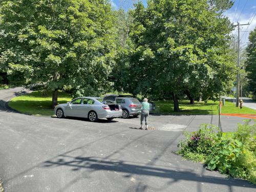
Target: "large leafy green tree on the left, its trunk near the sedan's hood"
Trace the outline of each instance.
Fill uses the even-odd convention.
[[[76,95],[108,87],[114,56],[113,14],[107,0],[2,0],[0,65],[27,84],[64,85]]]

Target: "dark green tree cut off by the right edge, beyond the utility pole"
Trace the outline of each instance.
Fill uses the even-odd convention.
[[[249,35],[249,45],[246,48],[247,60],[245,62],[247,71],[247,77],[249,79],[249,90],[253,95],[256,95],[256,28]]]

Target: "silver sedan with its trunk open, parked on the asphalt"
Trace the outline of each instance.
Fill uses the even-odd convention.
[[[121,106],[116,103],[105,103],[99,97],[79,97],[65,104],[58,104],[54,108],[58,118],[67,116],[88,118],[97,121],[101,118],[112,120],[121,117]]]

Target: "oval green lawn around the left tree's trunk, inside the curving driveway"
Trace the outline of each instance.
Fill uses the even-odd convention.
[[[68,94],[58,93],[58,104],[69,102],[71,99]],[[54,114],[53,109],[51,109],[52,96],[42,96],[41,92],[14,97],[8,104],[12,109],[30,115],[51,116]]]

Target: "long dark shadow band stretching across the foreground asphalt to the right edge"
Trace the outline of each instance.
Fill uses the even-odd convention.
[[[191,170],[179,171],[167,169],[166,167],[134,164],[127,161],[102,159],[98,157],[60,156],[56,160],[45,161],[42,166],[46,168],[67,166],[70,167],[72,171],[86,169],[89,173],[95,172],[97,170],[106,170],[108,172],[124,173],[122,177],[131,177],[131,175],[142,175],[168,178],[172,179],[172,182],[186,180],[202,183],[221,184],[227,186],[245,186],[249,188],[256,188],[256,186],[251,185],[247,181],[243,180],[230,179],[227,181],[226,179],[221,177],[200,176],[196,173],[193,173]]]

